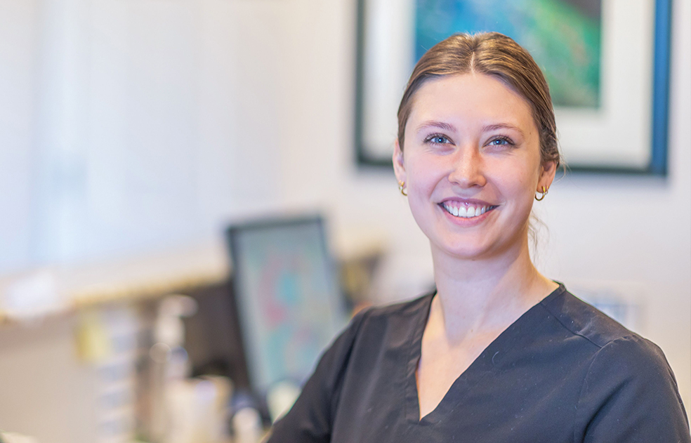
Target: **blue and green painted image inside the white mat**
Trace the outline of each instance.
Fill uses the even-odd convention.
[[[602,0],[416,0],[415,60],[455,32],[496,31],[542,68],[555,106],[598,107]]]

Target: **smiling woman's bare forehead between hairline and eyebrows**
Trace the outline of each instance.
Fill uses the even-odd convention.
[[[527,100],[504,82],[485,74],[461,74],[433,79],[416,91],[408,125],[427,120],[449,121],[461,127],[511,124],[537,132]],[[413,124],[411,124],[413,123]]]

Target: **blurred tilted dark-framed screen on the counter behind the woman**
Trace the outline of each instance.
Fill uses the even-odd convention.
[[[346,323],[322,218],[256,220],[227,236],[253,390],[303,383]]]

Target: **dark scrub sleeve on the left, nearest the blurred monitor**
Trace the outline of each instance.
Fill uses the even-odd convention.
[[[326,443],[331,440],[333,413],[338,405],[343,373],[357,331],[367,312],[359,312],[324,352],[288,414],[277,421],[266,443]]]

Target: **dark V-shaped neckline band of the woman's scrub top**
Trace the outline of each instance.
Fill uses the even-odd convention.
[[[466,370],[463,371],[458,378],[456,378],[435,409],[430,411],[430,413],[426,416],[420,418],[420,401],[418,397],[415,373],[422,353],[422,336],[430,315],[430,308],[432,307],[432,300],[435,296],[436,290],[426,296],[423,309],[421,310],[421,315],[419,315],[419,317],[416,319],[413,333],[411,333],[409,336],[408,352],[403,352],[403,355],[407,357],[402,366],[405,368],[405,416],[408,423],[416,425],[433,425],[441,421],[442,418],[454,408],[454,405],[461,401],[463,393],[473,387],[475,383],[470,385],[469,381],[478,381],[480,378],[484,378],[493,371],[495,357],[497,357],[497,355],[499,355],[504,349],[504,343],[510,342],[511,336],[516,333],[516,331],[520,331],[520,325],[522,323],[529,322],[529,319],[539,315],[541,305],[548,303],[548,300],[560,296],[560,294],[564,293],[565,291],[565,286],[559,283],[559,287],[557,289],[552,291],[539,303],[529,308],[529,310],[518,317],[515,322],[507,326],[504,331],[501,331],[499,336],[494,338],[494,340],[487,345],[487,348],[482,350],[480,355],[473,360],[470,366],[468,366]],[[469,378],[471,380],[468,380]]]

